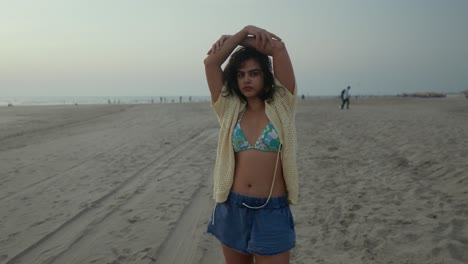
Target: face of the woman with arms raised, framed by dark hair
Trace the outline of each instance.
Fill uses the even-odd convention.
[[[241,64],[237,70],[237,85],[246,98],[260,96],[265,85],[262,68],[256,60],[249,59]]]

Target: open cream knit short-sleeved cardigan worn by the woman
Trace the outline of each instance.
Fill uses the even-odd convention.
[[[281,162],[283,165],[283,177],[286,182],[288,201],[296,204],[298,198],[298,180],[296,167],[296,90],[290,93],[275,79],[277,91],[273,95],[273,101],[265,102],[265,113],[271,121],[283,146]],[[239,118],[239,112],[245,107],[237,96],[223,96],[226,87],[223,87],[218,101],[213,109],[221,126],[219,130],[218,149],[214,168],[214,192],[213,198],[217,203],[227,200],[234,182],[234,150],[232,147],[232,131]]]

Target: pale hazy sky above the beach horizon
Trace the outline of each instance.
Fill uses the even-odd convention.
[[[0,0],[1,96],[207,96],[203,59],[255,25],[298,93],[468,90],[465,0]]]

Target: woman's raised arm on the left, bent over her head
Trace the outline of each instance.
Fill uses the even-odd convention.
[[[273,46],[273,39],[280,39],[275,34],[254,26],[246,26],[232,36],[221,36],[208,51],[208,56],[204,60],[206,80],[210,88],[212,103],[218,100],[224,84],[221,65],[238,45],[243,44],[248,36],[255,37],[256,45],[259,46]]]

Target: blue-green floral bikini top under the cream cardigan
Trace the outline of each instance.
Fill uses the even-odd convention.
[[[273,124],[268,121],[267,125],[262,131],[262,134],[255,142],[255,145],[251,146],[245,137],[242,128],[240,127],[240,122],[244,116],[245,108],[242,111],[239,121],[237,121],[234,131],[232,132],[232,146],[234,152],[240,152],[248,149],[257,149],[267,152],[277,152],[280,148],[280,140],[278,137],[278,132],[276,131]]]

